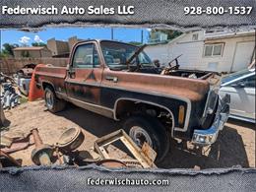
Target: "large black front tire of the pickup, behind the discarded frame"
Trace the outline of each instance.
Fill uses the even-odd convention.
[[[168,150],[169,150],[169,137],[162,126],[160,121],[157,118],[146,116],[146,115],[137,115],[129,117],[123,125],[125,132],[135,141],[138,145],[138,139],[136,142],[136,138],[134,138],[134,134],[132,129],[137,129],[136,127],[142,128],[144,131],[148,133],[152,141],[152,148],[157,152],[157,159],[155,160],[159,163],[164,159]],[[143,140],[143,139],[142,139]],[[142,143],[141,143],[142,145]],[[141,147],[141,145],[138,145]]]

